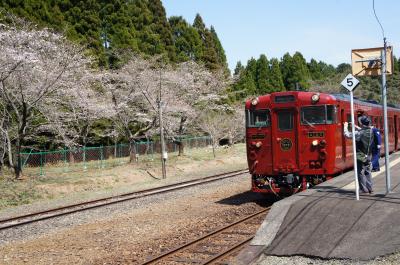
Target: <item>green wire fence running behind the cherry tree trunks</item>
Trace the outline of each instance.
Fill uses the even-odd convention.
[[[192,149],[202,148],[212,144],[208,136],[191,137],[181,140],[184,152],[190,154]],[[176,156],[179,144],[166,142],[169,156]],[[159,141],[135,142],[130,144],[115,144],[112,146],[80,147],[43,152],[22,152],[21,168],[25,175],[44,176],[49,173],[66,173],[85,171],[89,169],[105,169],[123,165],[134,160],[137,163],[158,160],[161,153]]]

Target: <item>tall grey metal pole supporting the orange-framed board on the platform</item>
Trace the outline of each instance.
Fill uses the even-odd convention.
[[[383,107],[383,122],[385,129],[385,175],[386,175],[386,193],[390,192],[390,167],[389,167],[389,136],[388,136],[388,122],[387,122],[387,102],[386,102],[386,38],[383,38],[383,51],[382,56],[382,107]]]

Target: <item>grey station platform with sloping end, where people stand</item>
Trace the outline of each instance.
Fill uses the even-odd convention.
[[[390,161],[389,194],[381,167],[372,175],[374,194],[360,194],[359,201],[350,171],[275,203],[236,263],[260,254],[369,260],[400,251],[400,154]]]

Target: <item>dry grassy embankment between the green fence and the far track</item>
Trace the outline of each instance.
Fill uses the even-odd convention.
[[[169,154],[166,179],[161,179],[160,158],[156,156],[153,159],[140,157],[138,162],[131,164],[79,172],[60,172],[49,166],[44,176],[30,176],[27,172],[32,169],[26,169],[22,180],[15,180],[10,172],[3,172],[0,176],[0,210],[91,192],[140,190],[247,167],[244,144],[218,148],[216,158],[210,147],[185,152],[180,157],[176,153]]]

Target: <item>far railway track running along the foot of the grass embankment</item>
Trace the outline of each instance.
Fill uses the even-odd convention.
[[[110,197],[105,197],[101,199],[96,199],[96,200],[91,200],[91,201],[86,201],[82,203],[77,203],[77,204],[71,204],[63,207],[58,207],[54,209],[49,209],[45,211],[40,211],[40,212],[34,212],[34,213],[29,213],[25,215],[20,215],[20,216],[15,216],[7,219],[1,219],[0,220],[0,231],[17,227],[17,226],[22,226],[30,223],[35,223],[39,222],[42,220],[46,219],[51,219],[59,216],[64,216],[80,211],[85,211],[89,209],[94,209],[94,208],[99,208],[99,207],[104,207],[107,205],[112,205],[124,201],[129,201],[129,200],[134,200],[138,198],[142,198],[145,196],[150,196],[150,195],[155,195],[155,194],[160,194],[160,193],[166,193],[170,191],[175,191],[179,189],[184,189],[187,187],[192,187],[200,184],[205,184],[213,181],[218,181],[222,180],[225,178],[230,178],[234,177],[240,174],[247,173],[248,170],[236,170],[228,173],[222,173],[222,174],[217,174],[213,176],[208,176],[204,178],[199,178],[195,180],[189,180],[189,181],[184,181],[176,184],[170,184],[162,187],[157,187],[157,188],[151,188],[151,189],[146,189],[146,190],[141,190],[141,191],[136,191],[136,192],[129,192],[129,193],[124,193],[116,196],[110,196]]]

